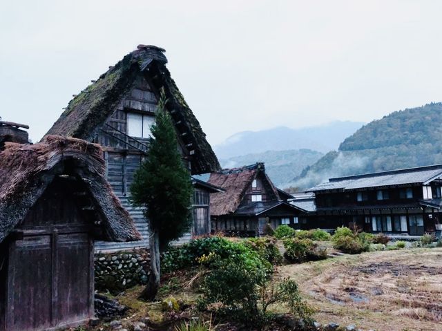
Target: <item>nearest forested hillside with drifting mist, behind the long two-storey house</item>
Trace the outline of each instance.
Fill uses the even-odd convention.
[[[307,189],[332,177],[442,163],[442,103],[396,111],[350,135],[290,186]]]

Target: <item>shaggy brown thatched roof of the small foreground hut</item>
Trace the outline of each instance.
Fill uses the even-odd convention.
[[[0,243],[60,175],[75,176],[84,183],[108,240],[141,239],[128,211],[104,178],[100,147],[49,135],[34,145],[7,142],[0,153]]]

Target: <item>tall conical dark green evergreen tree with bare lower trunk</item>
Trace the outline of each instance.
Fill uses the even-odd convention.
[[[160,100],[151,126],[152,137],[146,160],[135,173],[131,185],[131,202],[144,207],[150,231],[151,274],[140,297],[153,300],[160,287],[160,254],[171,242],[180,238],[191,226],[193,187],[189,170],[178,151],[178,142],[171,116],[166,111],[166,95]]]

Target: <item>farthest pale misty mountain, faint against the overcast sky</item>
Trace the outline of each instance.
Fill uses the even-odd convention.
[[[220,159],[249,153],[311,149],[327,153],[337,149],[340,142],[363,126],[363,122],[331,122],[322,126],[289,129],[285,126],[262,131],[244,131],[214,146]]]

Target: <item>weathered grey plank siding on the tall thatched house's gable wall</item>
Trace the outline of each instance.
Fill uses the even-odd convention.
[[[124,97],[122,102],[119,103],[111,117],[106,120],[102,129],[106,132],[99,132],[94,142],[101,144],[104,147],[104,158],[106,160],[106,173],[108,182],[111,184],[116,196],[122,202],[125,209],[131,214],[137,230],[143,236],[143,240],[131,243],[110,243],[104,241],[97,241],[95,243],[95,251],[117,251],[122,249],[132,249],[140,247],[148,247],[148,222],[144,218],[141,208],[133,207],[129,202],[131,183],[135,171],[140,167],[144,158],[143,151],[135,149],[131,145],[137,146],[137,143],[126,135],[128,133],[127,114],[128,113],[141,113],[146,115],[155,115],[155,109],[157,107],[157,96],[153,93],[149,82],[142,75],[135,79],[135,84],[131,91]],[[113,130],[112,128],[116,129]],[[119,132],[120,131],[120,132]],[[122,134],[122,133],[126,134]],[[113,138],[116,137],[116,138]],[[135,138],[142,144],[147,145],[148,140],[143,138]],[[183,155],[183,161],[186,162],[186,167],[190,169],[190,162],[186,160],[189,153],[182,142],[182,138],[177,132],[178,146],[177,149]],[[125,143],[126,142],[126,143]],[[143,146],[144,148],[144,146]],[[208,207],[208,202],[207,206]],[[209,213],[207,211],[207,213]],[[209,214],[207,214],[206,227],[209,227]],[[194,229],[192,229],[194,231]],[[180,245],[187,243],[192,238],[192,232],[186,233],[173,242],[173,245]],[[201,232],[202,230],[198,230]]]

